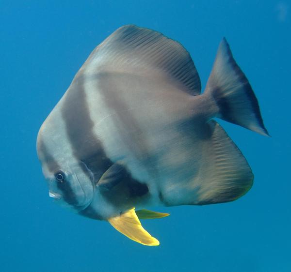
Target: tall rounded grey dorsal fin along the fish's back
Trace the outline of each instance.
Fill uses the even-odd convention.
[[[157,31],[134,25],[114,31],[95,48],[81,71],[158,77],[191,95],[201,91],[194,62],[182,45]]]

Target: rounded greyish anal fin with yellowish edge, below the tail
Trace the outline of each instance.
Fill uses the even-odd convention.
[[[203,172],[197,191],[198,205],[228,202],[243,196],[253,184],[253,173],[242,152],[216,122],[208,123],[211,137],[205,142]]]

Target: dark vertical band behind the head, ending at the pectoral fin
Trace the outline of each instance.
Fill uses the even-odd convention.
[[[97,182],[113,163],[94,134],[94,122],[90,118],[83,81],[83,78],[79,77],[71,85],[64,100],[62,116],[74,156],[80,162],[84,173],[91,178],[88,167]]]

